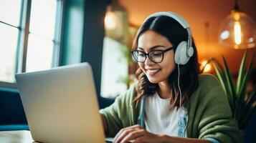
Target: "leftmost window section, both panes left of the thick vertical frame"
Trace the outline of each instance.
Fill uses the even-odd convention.
[[[0,4],[0,80],[4,82],[14,82],[21,5],[21,0]]]

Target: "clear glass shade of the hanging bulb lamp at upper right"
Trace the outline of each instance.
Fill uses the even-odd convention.
[[[219,44],[234,49],[255,47],[255,22],[244,12],[233,10],[220,26]]]

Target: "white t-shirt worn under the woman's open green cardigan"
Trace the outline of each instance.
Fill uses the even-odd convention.
[[[161,99],[157,92],[145,100],[145,127],[153,134],[166,134],[178,137],[179,119],[186,117],[186,109],[176,108],[170,110],[170,99]],[[182,136],[186,137],[186,129],[182,130]]]

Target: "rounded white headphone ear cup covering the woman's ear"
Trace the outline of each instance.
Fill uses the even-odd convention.
[[[184,65],[189,61],[190,57],[186,56],[186,46],[187,41],[181,41],[181,43],[179,43],[177,46],[174,56],[174,61],[176,64]]]

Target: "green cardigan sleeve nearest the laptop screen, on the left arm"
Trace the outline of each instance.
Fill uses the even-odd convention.
[[[116,97],[115,102],[106,107],[100,109],[100,114],[103,114],[106,120],[106,132],[109,137],[114,137],[123,127],[132,125],[133,119],[133,94],[136,90],[135,85],[128,89],[124,94]]]

